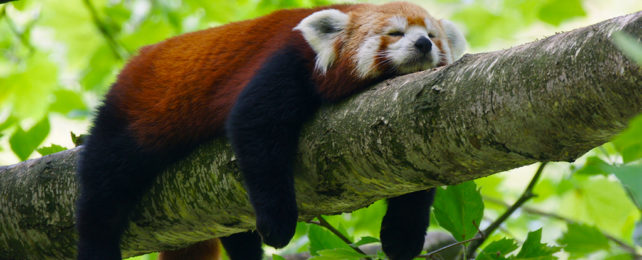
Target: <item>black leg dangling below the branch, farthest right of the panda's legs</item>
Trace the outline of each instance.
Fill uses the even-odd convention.
[[[411,260],[421,253],[434,197],[433,188],[388,199],[380,236],[391,260]]]

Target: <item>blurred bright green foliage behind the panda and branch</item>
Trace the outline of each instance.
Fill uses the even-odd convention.
[[[101,96],[141,46],[276,9],[332,2],[20,0],[0,5],[0,165],[72,147],[70,132],[86,133]],[[635,0],[415,2],[438,18],[457,22],[466,32],[470,52],[505,48],[642,9],[642,2]],[[639,39],[628,41],[629,45],[626,38],[623,41],[622,46],[632,46],[628,53],[640,53]],[[503,253],[511,251],[513,258],[544,259],[632,259],[642,254],[641,139],[642,117],[638,117],[613,142],[577,161],[546,165],[534,188],[537,197],[505,221],[486,243],[491,244],[486,253],[502,253],[482,253],[479,258],[502,259]],[[519,197],[537,167],[440,190],[433,230],[446,229],[460,240],[470,238],[476,227],[472,233],[454,227],[475,221],[483,229]],[[464,204],[466,210],[475,208],[479,214],[448,224],[461,207],[444,205]],[[376,242],[384,211],[385,204],[377,202],[327,220],[353,242],[364,237],[365,242]],[[297,231],[286,249],[268,251],[311,251],[321,255],[318,259],[358,258],[342,251],[350,248],[325,229],[301,223]],[[538,235],[550,247],[539,244]],[[515,250],[522,244],[522,249]]]

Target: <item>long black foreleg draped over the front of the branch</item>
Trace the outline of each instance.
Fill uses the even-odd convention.
[[[263,242],[283,247],[298,217],[292,176],[303,123],[319,101],[296,50],[277,52],[243,89],[226,130]]]

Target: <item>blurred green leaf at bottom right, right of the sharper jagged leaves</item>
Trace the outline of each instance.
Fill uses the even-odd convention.
[[[564,251],[572,257],[582,257],[589,253],[609,249],[609,240],[594,226],[585,224],[568,224],[567,230],[557,240],[564,246]]]

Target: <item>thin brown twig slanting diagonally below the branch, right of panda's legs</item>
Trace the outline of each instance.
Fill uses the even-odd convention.
[[[537,171],[535,172],[535,175],[533,175],[533,178],[531,179],[531,182],[528,184],[522,195],[511,205],[499,218],[497,218],[494,222],[492,222],[485,230],[484,232],[479,232],[478,236],[481,237],[479,240],[475,240],[474,242],[470,243],[470,246],[468,247],[468,250],[466,250],[467,255],[473,255],[475,253],[475,250],[481,246],[481,244],[486,241],[486,238],[490,236],[506,219],[508,219],[514,212],[517,210],[519,207],[521,207],[526,201],[529,199],[535,197],[535,194],[533,194],[533,188],[535,187],[535,184],[537,184],[537,181],[539,180],[539,177],[542,175],[542,171],[544,170],[544,167],[548,164],[548,162],[542,162],[539,167],[537,168]]]

